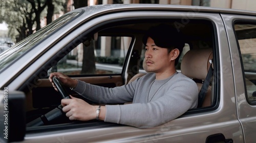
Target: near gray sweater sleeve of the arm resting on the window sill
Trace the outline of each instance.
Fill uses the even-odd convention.
[[[139,128],[155,127],[176,119],[188,109],[197,106],[198,88],[189,81],[177,82],[162,97],[149,103],[106,105],[105,122]]]

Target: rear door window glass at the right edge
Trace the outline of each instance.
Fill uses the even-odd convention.
[[[249,101],[256,101],[256,24],[235,24]]]

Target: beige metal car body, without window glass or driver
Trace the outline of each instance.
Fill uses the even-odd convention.
[[[0,110],[1,116],[4,114],[4,93],[8,92],[9,100],[11,97],[19,97],[19,100],[10,102],[9,116],[19,116],[14,119],[1,118],[0,132],[5,133],[5,120],[8,121],[8,137],[9,141],[17,142],[206,142],[218,141],[226,142],[253,142],[256,135],[256,104],[254,101],[248,102],[248,90],[256,91],[256,85],[251,84],[250,89],[246,84],[246,79],[255,81],[256,73],[244,72],[241,64],[240,48],[234,32],[234,21],[240,20],[249,23],[256,23],[254,12],[219,9],[208,7],[191,7],[191,6],[173,6],[173,5],[105,5],[92,6],[81,8],[70,12],[77,12],[72,20],[47,36],[47,39],[41,39],[35,45],[31,45],[31,49],[26,52],[26,56],[20,57],[15,62],[0,69],[0,88],[2,100]],[[178,19],[179,26],[182,28],[198,24],[197,21],[206,22],[205,25],[210,25],[211,34],[205,32],[205,35],[211,35],[211,43],[214,50],[214,78],[212,80],[212,99],[211,105],[195,110],[189,110],[181,117],[165,123],[163,125],[140,129],[131,126],[119,125],[114,123],[104,122],[87,122],[87,123],[63,123],[55,125],[46,125],[40,127],[26,127],[25,115],[18,109],[24,107],[25,111],[32,109],[32,93],[31,91],[23,90],[24,86],[33,81],[36,88],[48,87],[51,88],[47,78],[38,78],[35,74],[45,63],[52,60],[63,47],[72,41],[79,39],[82,33],[91,33],[98,30],[97,28],[104,27],[110,24],[113,27],[124,25],[123,28],[129,27],[127,19],[143,20],[145,22],[163,22],[168,19]],[[152,21],[148,20],[152,19]],[[158,21],[159,20],[159,21]],[[72,78],[80,79],[92,84],[100,83],[115,83],[116,86],[129,82],[131,77],[139,72],[131,73],[134,62],[132,51],[138,50],[138,55],[142,53],[141,48],[141,33],[140,30],[146,30],[150,24],[140,24],[132,26],[129,23],[129,28],[134,28],[138,33],[135,33],[135,40],[132,40],[130,50],[127,52],[125,65],[122,67],[122,73],[119,75],[105,76],[73,76]],[[203,23],[199,23],[202,24]],[[140,26],[139,26],[140,25]],[[141,26],[142,25],[142,26]],[[145,26],[145,27],[143,27]],[[120,26],[122,27],[122,26]],[[198,30],[199,36],[203,35],[204,31],[200,30],[205,27],[193,28]],[[206,28],[207,29],[207,28]],[[188,28],[189,30],[189,28]],[[133,31],[133,32],[134,32]],[[115,31],[117,34],[118,31]],[[130,34],[129,32],[127,32]],[[126,34],[127,34],[126,33]],[[100,35],[101,33],[98,32]],[[108,34],[108,31],[102,32]],[[187,37],[197,38],[197,33],[187,31]],[[36,36],[36,35],[34,35]],[[32,39],[32,37],[30,37]],[[202,38],[202,37],[200,37]],[[191,43],[193,45],[193,43]],[[201,43],[202,45],[203,43]],[[200,45],[200,44],[198,44]],[[15,45],[22,46],[19,44]],[[194,43],[194,48],[196,44]],[[255,47],[252,47],[255,50]],[[0,59],[1,59],[0,55]],[[136,63],[136,62],[135,62]],[[138,64],[138,62],[137,62]],[[252,63],[255,64],[255,63]],[[50,64],[49,64],[50,65]],[[246,78],[245,78],[246,77]],[[37,78],[37,80],[36,80]],[[38,84],[37,84],[38,83]],[[245,85],[246,84],[246,85]],[[8,87],[5,90],[5,87]],[[247,90],[246,90],[247,87]],[[32,91],[35,87],[32,86]],[[248,92],[249,93],[249,92]],[[24,102],[16,104],[15,102]],[[25,103],[26,101],[26,103]],[[3,103],[3,105],[2,105]],[[30,105],[29,105],[30,104]],[[18,107],[20,106],[20,107]],[[182,105],[181,105],[182,106]],[[14,108],[14,109],[13,109]],[[16,109],[15,109],[16,108]],[[18,108],[18,109],[17,109]],[[11,112],[13,111],[13,112]],[[16,112],[15,112],[16,111]],[[25,112],[24,111],[24,112]],[[11,115],[12,114],[12,115]],[[16,114],[16,115],[15,115]],[[9,117],[10,118],[10,117]],[[19,125],[18,132],[12,130]],[[18,138],[15,138],[15,136]],[[5,136],[5,134],[4,134]],[[1,136],[2,141],[7,141],[4,136]],[[223,139],[224,137],[224,139]]]

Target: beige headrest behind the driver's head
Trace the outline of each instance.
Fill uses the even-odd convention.
[[[181,61],[181,73],[190,78],[205,79],[213,59],[212,49],[193,49]]]

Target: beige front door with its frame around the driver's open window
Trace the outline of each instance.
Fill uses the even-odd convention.
[[[179,17],[180,19],[184,18],[187,12],[146,12],[146,16],[150,17],[149,19],[154,19],[154,17],[164,16],[163,19],[174,19]],[[145,17],[144,12],[124,12],[124,13],[116,13],[111,15],[105,15],[99,17],[102,19],[117,19],[118,17],[124,15],[127,19],[135,18],[140,19],[142,16]],[[63,137],[65,140],[74,140],[75,138],[82,138],[87,141],[102,141],[106,138],[112,139],[112,141],[122,141],[122,142],[136,142],[136,141],[182,141],[186,142],[189,141],[191,137],[198,136],[195,138],[195,142],[202,142],[202,141],[212,141],[216,138],[222,139],[231,139],[234,141],[241,142],[243,138],[241,138],[242,128],[237,118],[236,112],[236,104],[233,102],[234,98],[234,89],[229,85],[234,84],[233,80],[230,80],[232,77],[232,73],[224,71],[221,67],[226,66],[227,70],[231,69],[231,63],[226,61],[227,55],[229,55],[228,43],[226,38],[226,33],[224,30],[223,22],[220,20],[219,14],[209,14],[209,13],[195,13],[193,20],[197,19],[204,19],[206,21],[211,21],[212,23],[212,32],[215,33],[215,36],[212,39],[212,49],[214,50],[216,59],[215,61],[215,82],[213,90],[214,101],[211,106],[201,109],[195,109],[187,112],[182,117],[163,124],[161,126],[149,129],[139,129],[134,127],[127,127],[127,126],[113,126],[106,128],[101,128],[96,130],[96,128],[89,129],[86,126],[84,128],[79,128],[77,131],[71,133],[70,135],[65,135]],[[163,21],[163,20],[162,20]],[[181,20],[180,20],[181,21]],[[179,21],[179,22],[180,22]],[[177,21],[178,22],[178,21]],[[108,22],[106,22],[108,23]],[[92,24],[92,23],[91,23]],[[92,25],[97,25],[98,23],[93,23]],[[186,23],[179,23],[186,26]],[[77,31],[74,33],[78,33],[82,31],[83,27],[87,27],[87,24],[80,26]],[[115,23],[111,23],[111,25],[115,25]],[[187,23],[189,25],[189,22]],[[93,29],[93,27],[92,27]],[[84,31],[84,30],[83,30]],[[61,40],[55,46],[63,47],[68,44],[66,39],[70,39],[69,36],[67,38]],[[74,77],[76,78],[76,77]],[[70,127],[70,129],[75,128],[75,126]],[[36,134],[32,133],[32,128],[27,135],[28,140],[34,138]],[[105,131],[108,130],[108,133]],[[68,130],[66,130],[67,132]],[[52,132],[52,137],[48,139],[56,140],[59,136]],[[127,133],[129,132],[129,133]],[[41,134],[44,132],[41,132]],[[45,132],[49,134],[49,132]],[[74,135],[75,134],[75,135]],[[101,137],[96,137],[96,135],[101,134]],[[62,135],[60,135],[62,136]],[[224,136],[224,138],[223,138]],[[43,136],[37,136],[41,138]],[[61,138],[61,137],[60,137]],[[81,138],[81,139],[82,139]]]

